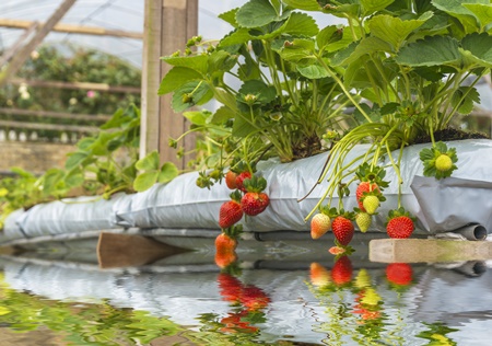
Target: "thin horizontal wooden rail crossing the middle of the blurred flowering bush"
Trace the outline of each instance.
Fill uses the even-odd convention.
[[[109,85],[106,83],[90,83],[90,82],[61,82],[61,81],[42,81],[34,79],[24,78],[12,78],[9,80],[12,84],[26,84],[30,86],[43,86],[43,88],[59,88],[59,89],[71,89],[71,90],[96,90],[96,91],[107,91],[107,92],[121,92],[121,93],[141,93],[141,89],[138,86],[125,86],[125,85]]]

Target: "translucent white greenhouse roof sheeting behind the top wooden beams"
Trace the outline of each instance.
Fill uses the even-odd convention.
[[[199,0],[199,34],[215,38],[230,27],[218,14],[233,9],[246,0]],[[28,25],[46,22],[63,0],[2,0],[0,20]],[[104,28],[130,34],[134,37],[114,37],[66,32],[50,32],[43,43],[77,44],[87,48],[102,49],[140,67],[142,62],[142,39],[144,23],[144,0],[78,0],[60,20],[59,24],[89,28]],[[26,32],[25,28],[0,25],[0,51],[15,45]]]

